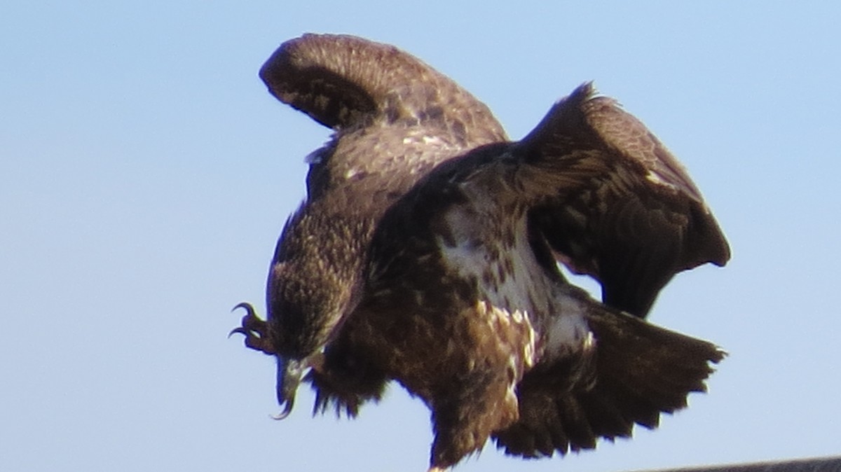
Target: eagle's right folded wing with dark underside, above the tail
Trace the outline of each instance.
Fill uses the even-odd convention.
[[[648,128],[587,83],[515,145],[532,224],[557,260],[600,281],[611,307],[644,317],[681,270],[730,249],[701,193]]]

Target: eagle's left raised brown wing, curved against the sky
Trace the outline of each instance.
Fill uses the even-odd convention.
[[[484,103],[390,45],[342,34],[283,43],[260,70],[272,95],[329,128],[435,123],[463,139],[505,139]]]

